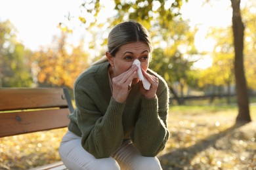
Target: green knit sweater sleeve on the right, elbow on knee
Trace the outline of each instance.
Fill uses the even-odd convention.
[[[168,141],[169,92],[165,88],[153,99],[142,97],[140,116],[131,134],[133,144],[143,156],[156,156]]]

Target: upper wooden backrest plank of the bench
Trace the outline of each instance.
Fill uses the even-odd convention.
[[[68,107],[63,88],[0,88],[0,110]]]

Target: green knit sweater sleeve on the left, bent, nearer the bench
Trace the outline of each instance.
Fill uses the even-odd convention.
[[[111,98],[106,112],[102,113],[83,87],[76,87],[75,95],[81,145],[95,158],[109,157],[123,141],[122,112],[125,103]]]

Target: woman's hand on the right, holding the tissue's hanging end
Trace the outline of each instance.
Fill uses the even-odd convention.
[[[150,75],[144,71],[144,69],[141,69],[142,74],[144,75],[144,78],[150,82],[151,86],[149,90],[144,89],[142,83],[140,84],[140,92],[148,99],[152,99],[156,95],[156,90],[158,89],[159,80],[158,77]]]

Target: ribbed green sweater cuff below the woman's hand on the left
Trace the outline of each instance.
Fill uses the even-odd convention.
[[[110,104],[103,117],[104,124],[109,127],[119,127],[122,124],[122,114],[125,108],[125,103],[117,102],[113,97],[110,99]]]

